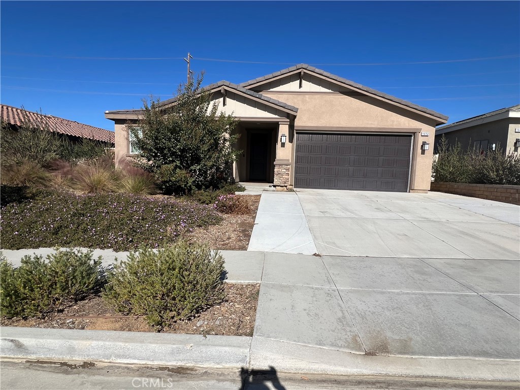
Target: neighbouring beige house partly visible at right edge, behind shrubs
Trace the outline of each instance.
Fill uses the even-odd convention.
[[[473,116],[446,126],[437,127],[435,145],[443,137],[449,145],[460,142],[464,149],[495,150],[500,145],[504,153],[520,149],[520,105]]]

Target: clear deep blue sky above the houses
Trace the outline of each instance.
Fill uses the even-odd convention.
[[[303,62],[448,123],[520,102],[520,2],[2,1],[0,11],[2,103],[101,128],[113,129],[106,110],[172,97],[188,51],[204,85]]]

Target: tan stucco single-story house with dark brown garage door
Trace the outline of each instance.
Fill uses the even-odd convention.
[[[238,121],[236,181],[281,189],[430,189],[435,126],[446,123],[445,115],[307,64],[205,89]],[[172,104],[175,98],[162,102]],[[106,111],[115,123],[116,159],[135,155],[126,125],[140,114]]]

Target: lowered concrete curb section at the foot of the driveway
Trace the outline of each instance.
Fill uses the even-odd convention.
[[[520,360],[368,356],[254,336],[250,366],[323,375],[399,376],[520,384]]]

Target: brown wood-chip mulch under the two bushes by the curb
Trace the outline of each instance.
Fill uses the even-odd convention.
[[[161,332],[252,336],[259,284],[225,283],[225,289],[225,302],[206,309],[190,320],[178,321],[171,329],[163,329]],[[107,306],[101,297],[94,296],[74,305],[58,308],[43,318],[2,318],[0,325],[25,328],[156,331],[141,317],[80,318],[88,316],[122,315]]]

